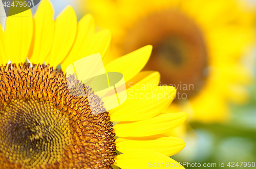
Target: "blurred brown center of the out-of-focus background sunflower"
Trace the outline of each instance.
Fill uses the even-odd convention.
[[[207,53],[193,20],[175,10],[149,15],[127,33],[124,53],[147,44],[154,47],[145,70],[159,71],[161,85],[173,85],[187,97],[200,91],[207,76]]]

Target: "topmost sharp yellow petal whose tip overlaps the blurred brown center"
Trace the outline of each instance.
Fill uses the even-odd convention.
[[[137,51],[113,60],[105,66],[105,70],[122,73],[125,82],[127,82],[145,66],[150,58],[151,51],[151,45],[141,47],[141,49]]]

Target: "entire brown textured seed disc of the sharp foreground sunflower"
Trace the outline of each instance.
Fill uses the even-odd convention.
[[[10,67],[0,67],[0,168],[111,168],[115,134],[97,95],[49,65]]]

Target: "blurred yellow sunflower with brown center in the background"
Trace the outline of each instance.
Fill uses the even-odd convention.
[[[86,2],[85,2],[86,3]],[[170,111],[191,120],[226,122],[229,103],[246,102],[250,70],[241,60],[253,41],[253,15],[236,0],[87,1],[101,28],[113,34],[112,57],[154,46],[144,70],[173,85]]]

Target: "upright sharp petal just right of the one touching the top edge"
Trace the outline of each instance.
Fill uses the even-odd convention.
[[[77,31],[77,18],[74,9],[68,6],[55,20],[52,50],[46,63],[56,67],[71,50]]]

